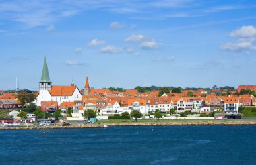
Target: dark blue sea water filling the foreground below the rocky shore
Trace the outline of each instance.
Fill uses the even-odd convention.
[[[0,131],[0,164],[256,164],[256,125]]]

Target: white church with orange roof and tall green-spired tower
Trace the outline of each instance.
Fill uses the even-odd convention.
[[[40,107],[42,101],[57,101],[59,106],[63,102],[81,100],[82,94],[73,82],[71,85],[52,85],[45,57],[42,77],[39,82],[39,93],[35,100],[36,105]]]

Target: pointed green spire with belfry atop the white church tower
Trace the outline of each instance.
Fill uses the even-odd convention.
[[[49,72],[48,72],[46,57],[44,57],[44,66],[42,68],[42,77],[39,82],[39,89],[40,90],[51,90],[52,89],[52,83],[51,83]]]

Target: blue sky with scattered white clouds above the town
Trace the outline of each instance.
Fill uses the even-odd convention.
[[[256,82],[256,1],[0,0],[0,89]]]

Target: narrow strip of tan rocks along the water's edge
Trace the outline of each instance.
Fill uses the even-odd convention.
[[[160,125],[256,125],[256,121],[159,121],[159,122],[134,122],[134,123],[90,123],[80,125],[51,125],[51,126],[20,126],[20,127],[0,127],[1,130],[19,129],[82,129],[82,128],[106,128],[115,126],[160,126]]]

